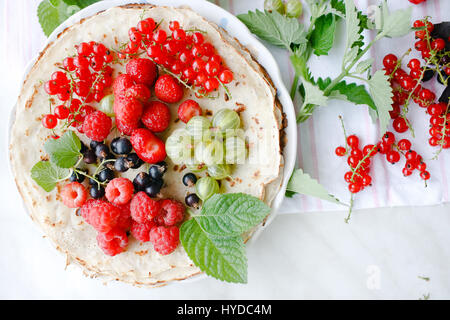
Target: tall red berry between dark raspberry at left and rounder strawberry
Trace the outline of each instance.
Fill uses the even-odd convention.
[[[131,135],[133,130],[139,128],[143,109],[142,103],[136,99],[116,98],[114,100],[114,113],[116,114],[116,124],[119,131]]]

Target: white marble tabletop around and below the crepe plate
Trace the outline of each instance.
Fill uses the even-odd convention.
[[[206,279],[147,290],[104,285],[84,278],[76,267],[64,270],[64,257],[24,213],[7,168],[7,115],[21,70],[44,40],[34,16],[37,2],[0,2],[0,298],[450,298],[450,205],[359,210],[349,225],[344,212],[279,216],[248,248],[247,285]],[[217,2],[230,10],[244,3]],[[261,3],[245,1],[245,6]]]

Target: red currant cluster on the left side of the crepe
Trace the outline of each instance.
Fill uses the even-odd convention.
[[[75,46],[77,55],[67,57],[61,70],[52,74],[44,89],[50,96],[57,96],[61,104],[42,118],[47,129],[54,129],[58,120],[66,126],[76,127],[81,132],[83,120],[94,108],[87,105],[100,102],[105,89],[112,84],[114,53],[102,43],[83,42]],[[78,98],[75,98],[75,95]],[[54,100],[50,99],[50,109]]]

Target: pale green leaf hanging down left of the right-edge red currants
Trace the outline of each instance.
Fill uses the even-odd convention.
[[[377,108],[381,135],[384,135],[391,120],[389,111],[392,110],[392,97],[394,96],[389,77],[384,74],[383,70],[378,70],[368,83],[370,94]]]

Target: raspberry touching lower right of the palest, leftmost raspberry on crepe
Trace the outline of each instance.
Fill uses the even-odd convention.
[[[121,210],[118,207],[104,200],[90,201],[81,211],[86,222],[98,232],[103,233],[117,227],[121,215]]]

